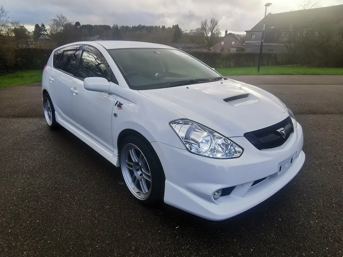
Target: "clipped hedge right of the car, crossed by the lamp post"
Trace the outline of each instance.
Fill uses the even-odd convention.
[[[212,68],[252,67],[258,65],[259,53],[214,53],[201,51],[187,51]],[[277,54],[263,53],[261,65],[280,65]]]

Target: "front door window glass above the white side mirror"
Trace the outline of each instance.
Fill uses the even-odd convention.
[[[92,47],[85,47],[83,50],[78,77],[85,79],[87,77],[103,77],[111,80],[111,69],[102,54]]]

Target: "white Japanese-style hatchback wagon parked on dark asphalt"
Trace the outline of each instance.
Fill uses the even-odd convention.
[[[48,125],[121,167],[138,201],[205,219],[261,203],[305,161],[301,126],[278,98],[169,46],[59,47],[43,71],[42,96]]]

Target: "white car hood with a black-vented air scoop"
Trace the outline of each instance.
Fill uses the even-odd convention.
[[[232,79],[140,93],[179,112],[180,118],[198,122],[227,137],[243,136],[288,117],[275,96]]]

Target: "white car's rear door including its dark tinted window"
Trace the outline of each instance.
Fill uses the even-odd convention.
[[[73,78],[76,72],[76,61],[81,52],[81,45],[69,46],[56,50],[53,69],[49,77],[49,93],[59,117],[71,123],[71,101],[73,100]]]

